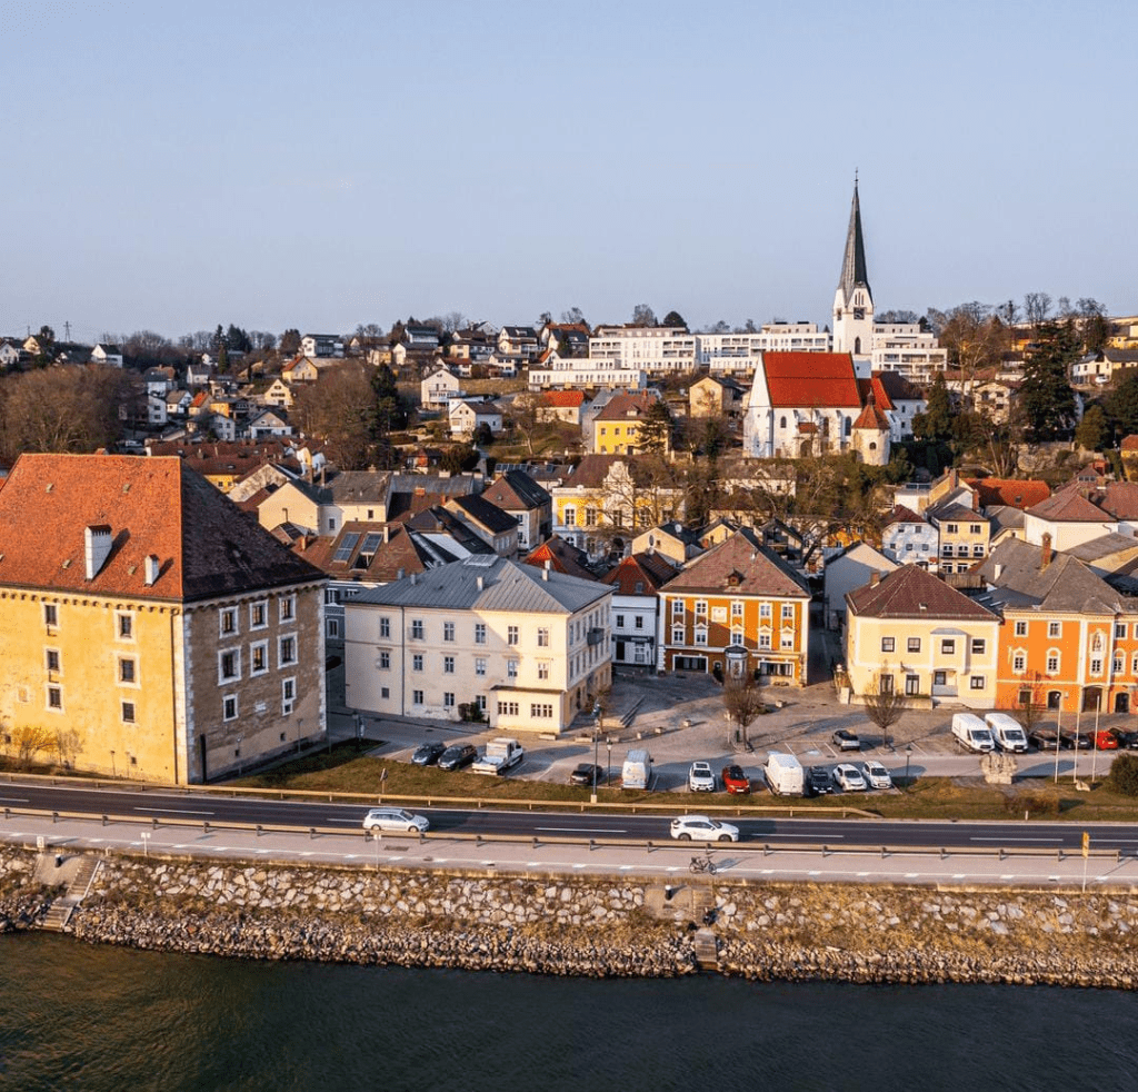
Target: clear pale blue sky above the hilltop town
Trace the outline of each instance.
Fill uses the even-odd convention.
[[[0,336],[1138,312],[1132,0],[3,0]]]

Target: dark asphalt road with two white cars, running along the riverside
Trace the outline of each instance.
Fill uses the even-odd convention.
[[[42,782],[0,783],[0,808],[15,812],[39,810],[93,818],[130,818],[151,826],[185,824],[224,827],[261,824],[320,828],[345,834],[361,830],[365,804],[310,803],[216,794],[147,791]],[[575,838],[583,841],[620,840],[662,843],[669,839],[670,815],[613,814],[610,812],[494,811],[421,807],[432,834],[464,836],[513,836]],[[698,802],[691,811],[699,812]],[[934,849],[1032,849],[1074,852],[1082,844],[1082,827],[1072,823],[1013,821],[960,822],[915,820],[841,819],[728,819],[749,843],[780,847],[819,846],[839,848],[930,847]],[[1090,827],[1096,849],[1138,855],[1138,826],[1098,823]]]

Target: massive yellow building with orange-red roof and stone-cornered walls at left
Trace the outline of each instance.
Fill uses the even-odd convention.
[[[184,785],[320,738],[323,584],[176,457],[22,455],[0,490],[0,745]]]

